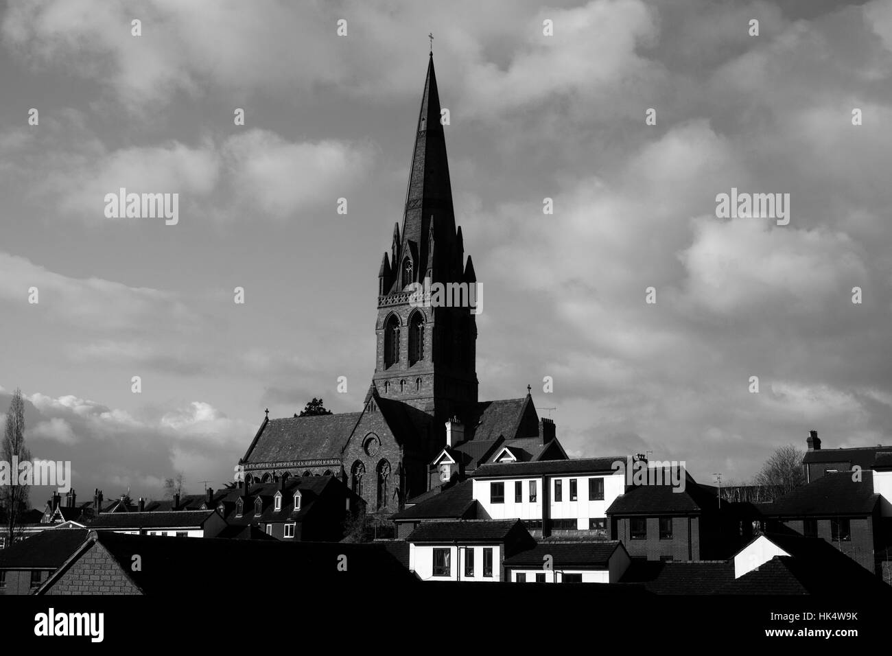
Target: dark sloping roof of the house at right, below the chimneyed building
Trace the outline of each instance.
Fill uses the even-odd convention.
[[[861,472],[861,481],[852,473],[824,474],[811,483],[798,486],[773,503],[761,506],[766,516],[802,517],[806,515],[869,515],[880,502],[873,494],[873,472]]]

